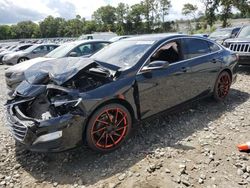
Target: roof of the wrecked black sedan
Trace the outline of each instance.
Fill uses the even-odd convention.
[[[134,36],[134,37],[127,38],[124,40],[126,41],[160,41],[160,40],[168,39],[172,37],[183,37],[183,36],[188,36],[188,35],[178,34],[178,33],[146,34],[146,35]]]

